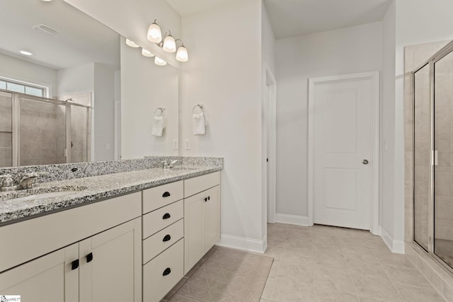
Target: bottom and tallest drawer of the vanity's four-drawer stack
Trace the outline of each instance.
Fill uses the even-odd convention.
[[[184,277],[183,267],[184,239],[181,239],[143,266],[143,301],[161,301]]]

